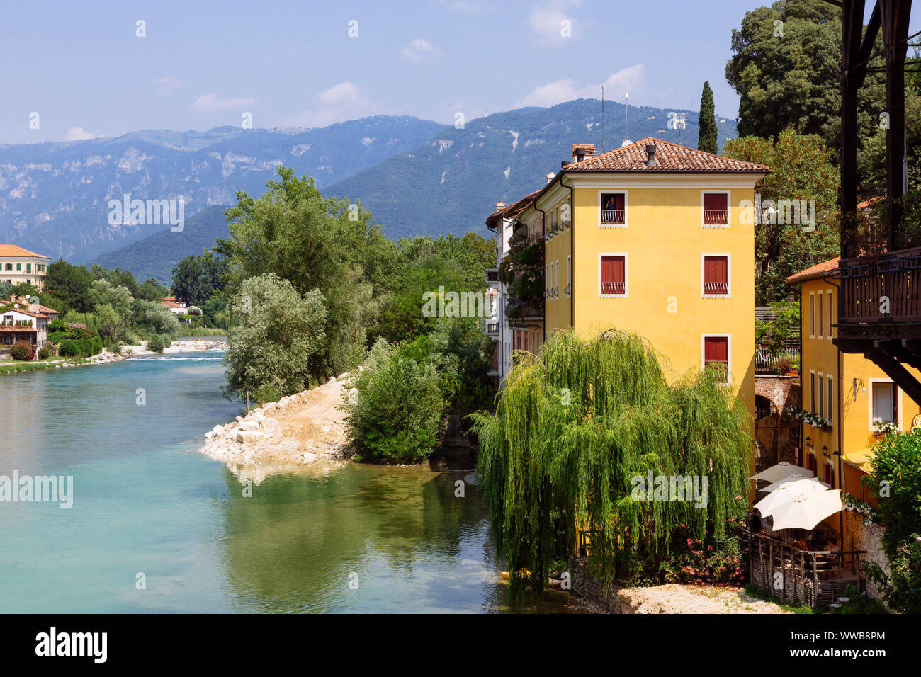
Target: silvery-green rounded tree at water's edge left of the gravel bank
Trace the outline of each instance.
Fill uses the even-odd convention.
[[[319,289],[300,295],[273,273],[244,281],[232,302],[238,322],[227,334],[225,395],[266,388],[289,395],[308,387],[326,344],[323,301]]]

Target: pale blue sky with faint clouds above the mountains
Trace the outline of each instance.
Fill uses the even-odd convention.
[[[137,129],[453,123],[581,97],[736,117],[731,30],[757,0],[7,3],[0,144]],[[870,4],[870,3],[869,3]],[[705,11],[702,9],[705,7]],[[137,37],[136,22],[146,37]],[[357,36],[349,37],[349,22]],[[569,37],[561,36],[562,21]],[[913,21],[916,23],[916,21]],[[914,30],[914,28],[913,28]],[[354,30],[353,30],[354,32]],[[39,128],[29,115],[39,113]]]

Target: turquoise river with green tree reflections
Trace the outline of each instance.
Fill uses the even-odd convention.
[[[349,463],[251,487],[197,449],[240,413],[219,353],[0,376],[0,475],[73,476],[72,508],[0,501],[4,613],[573,613],[510,603],[463,473]]]

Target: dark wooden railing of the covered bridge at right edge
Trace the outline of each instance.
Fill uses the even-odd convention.
[[[921,321],[921,247],[841,261],[838,266],[839,323]]]

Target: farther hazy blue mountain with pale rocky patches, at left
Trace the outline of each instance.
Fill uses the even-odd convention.
[[[322,129],[143,130],[117,138],[0,146],[0,242],[82,263],[161,226],[110,226],[108,203],[185,199],[189,218],[260,195],[279,165],[323,188],[410,150],[442,125],[377,116]]]

